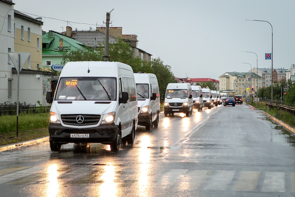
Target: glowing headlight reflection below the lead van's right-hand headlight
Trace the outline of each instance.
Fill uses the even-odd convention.
[[[117,196],[117,184],[115,183],[116,178],[115,167],[113,164],[108,164],[104,166],[104,173],[101,175],[101,183],[98,193],[99,196]]]

